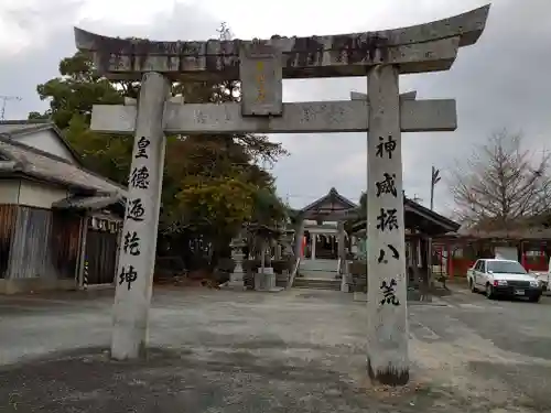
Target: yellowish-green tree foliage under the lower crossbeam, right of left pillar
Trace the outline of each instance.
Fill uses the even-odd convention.
[[[272,226],[281,220],[287,210],[276,195],[273,177],[251,159],[227,139],[190,137],[173,142],[163,188],[163,232],[181,244],[201,236],[217,250],[214,265],[244,222]]]

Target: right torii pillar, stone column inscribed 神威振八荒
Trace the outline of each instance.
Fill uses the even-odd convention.
[[[487,9],[485,12],[487,15]],[[476,37],[460,32],[451,43],[442,44],[437,54],[455,56],[458,46],[474,43],[486,15]],[[437,29],[450,30],[445,24]],[[430,64],[423,66],[428,57],[434,56],[419,54],[414,58],[415,72],[431,72]],[[412,72],[381,59],[367,75],[367,370],[375,384],[387,385],[403,385],[410,378],[400,73]]]

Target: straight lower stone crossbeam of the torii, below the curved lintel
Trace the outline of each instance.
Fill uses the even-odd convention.
[[[368,102],[363,100],[283,104],[283,116],[242,118],[240,104],[168,104],[166,133],[314,133],[361,132],[369,129]],[[95,105],[91,129],[130,134],[136,126],[136,106]],[[403,132],[454,131],[457,113],[454,99],[402,100]]]

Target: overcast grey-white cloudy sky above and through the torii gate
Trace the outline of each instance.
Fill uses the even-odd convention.
[[[7,119],[43,111],[36,85],[57,75],[75,52],[73,26],[110,35],[151,40],[206,40],[227,22],[239,39],[364,32],[426,23],[484,6],[489,0],[1,0],[0,95],[17,96]],[[530,150],[548,149],[551,127],[551,1],[494,0],[478,43],[462,47],[451,70],[402,75],[401,91],[418,99],[457,100],[454,132],[402,135],[406,193],[424,205],[431,166],[441,170],[435,209],[450,215],[446,184],[456,162],[476,144],[507,128],[520,131]],[[366,91],[365,78],[284,80],[284,101],[347,100]],[[290,155],[273,167],[278,191],[293,207],[331,187],[357,202],[367,185],[367,134],[277,134]]]

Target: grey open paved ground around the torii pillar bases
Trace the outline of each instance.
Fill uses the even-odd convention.
[[[365,374],[352,294],[158,289],[147,361],[107,357],[112,292],[0,297],[0,411],[549,412],[551,298],[410,307],[412,384]]]

